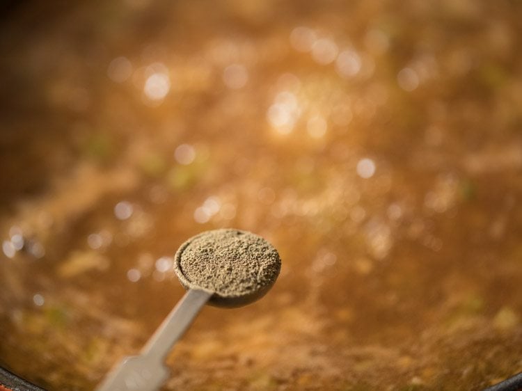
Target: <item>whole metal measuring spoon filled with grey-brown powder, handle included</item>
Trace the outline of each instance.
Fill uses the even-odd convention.
[[[258,300],[276,282],[277,250],[251,232],[214,230],[187,240],[175,255],[175,273],[188,289],[139,356],[126,357],[97,391],[154,391],[166,381],[164,361],[206,303],[239,307]]]

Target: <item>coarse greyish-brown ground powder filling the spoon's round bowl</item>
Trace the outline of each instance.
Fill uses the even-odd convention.
[[[208,289],[224,298],[267,291],[281,267],[277,250],[262,237],[230,229],[192,237],[175,258],[175,271],[185,287]]]

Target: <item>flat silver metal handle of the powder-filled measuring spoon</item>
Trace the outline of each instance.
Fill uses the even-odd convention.
[[[212,292],[189,289],[166,317],[139,356],[126,357],[106,376],[97,391],[155,391],[168,378],[164,361]]]

